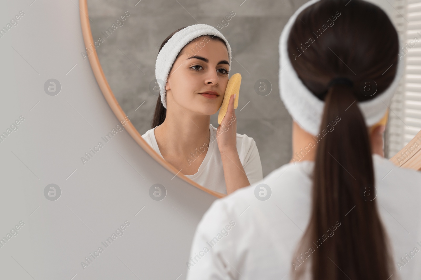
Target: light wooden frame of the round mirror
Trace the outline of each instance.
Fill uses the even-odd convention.
[[[202,191],[207,192],[217,198],[226,196],[226,194],[221,194],[216,191],[212,191],[208,188],[200,186],[195,181],[187,178],[184,174],[180,173],[173,165],[163,159],[157,152],[155,152],[152,147],[147,144],[147,142],[142,138],[139,131],[133,126],[130,120],[126,119],[126,114],[123,109],[120,107],[120,104],[117,102],[107,79],[105,78],[104,71],[102,71],[101,63],[99,62],[96,49],[94,47],[94,41],[91,32],[91,24],[89,23],[88,18],[88,2],[87,0],[79,0],[79,10],[80,10],[80,24],[82,27],[83,41],[85,42],[85,47],[91,51],[91,54],[88,55],[89,63],[93,71],[93,75],[101,89],[102,94],[108,102],[109,107],[121,122],[125,122],[125,128],[127,132],[132,136],[139,146],[144,149],[154,160],[156,160],[160,165],[165,167],[168,171],[183,179],[187,183],[200,188]],[[417,146],[417,147],[415,147]],[[421,170],[421,131],[412,139],[400,152],[398,152],[394,157],[390,159],[395,165],[399,167],[405,167],[415,170]]]

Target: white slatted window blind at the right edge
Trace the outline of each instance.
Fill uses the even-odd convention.
[[[392,99],[386,133],[386,155],[393,157],[421,130],[421,1],[396,0],[392,21],[397,28],[405,73]]]

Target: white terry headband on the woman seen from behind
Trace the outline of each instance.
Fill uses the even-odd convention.
[[[296,120],[299,126],[301,126],[301,128],[311,133],[312,135],[319,134],[325,102],[312,94],[312,92],[307,89],[300,78],[298,78],[298,75],[291,65],[291,61],[288,57],[287,42],[291,27],[297,18],[296,15],[299,15],[302,10],[309,7],[310,5],[313,5],[314,3],[317,3],[318,1],[320,0],[311,0],[298,8],[298,10],[290,17],[288,23],[282,30],[279,41],[279,89],[282,102],[284,102],[286,109]],[[402,44],[399,42],[399,48],[401,47]],[[403,71],[403,60],[398,60],[397,73],[390,86],[382,94],[378,94],[377,97],[373,99],[357,102],[367,126],[373,126],[378,121],[380,121],[381,118],[383,118],[387,109],[386,105],[389,106],[389,103],[392,100],[392,96],[400,82]]]

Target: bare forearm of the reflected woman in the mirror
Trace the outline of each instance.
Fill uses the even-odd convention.
[[[227,194],[231,194],[239,188],[250,186],[237,150],[221,152],[221,159],[224,167]]]

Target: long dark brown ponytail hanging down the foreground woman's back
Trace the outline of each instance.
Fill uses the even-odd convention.
[[[320,131],[340,122],[318,143],[314,162],[312,214],[304,236],[314,249],[314,280],[386,280],[392,274],[373,199],[368,131],[357,103],[352,88],[342,84],[331,86],[325,98]]]

